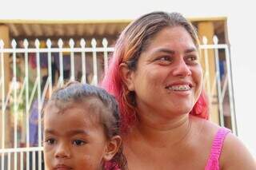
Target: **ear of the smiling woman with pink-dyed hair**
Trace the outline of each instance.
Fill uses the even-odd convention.
[[[126,63],[119,65],[119,72],[121,73],[122,81],[125,82],[127,89],[134,91],[134,71],[128,68]]]

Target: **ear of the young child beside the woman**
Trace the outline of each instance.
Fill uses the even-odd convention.
[[[121,147],[122,139],[120,136],[113,136],[106,146],[106,152],[103,156],[103,160],[109,161],[118,152]]]

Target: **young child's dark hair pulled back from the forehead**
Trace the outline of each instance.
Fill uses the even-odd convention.
[[[102,102],[103,107],[100,108],[97,116],[104,128],[106,138],[110,140],[113,136],[119,135],[120,116],[118,113],[118,103],[115,101],[114,96],[107,93],[106,90],[94,85],[71,81],[62,88],[54,90],[46,107],[47,105],[54,105],[62,110],[74,103],[86,103],[86,101],[89,101],[92,98]],[[94,107],[94,105],[92,106],[92,109],[98,109],[98,105],[96,106],[97,108]],[[106,164],[108,170],[115,169],[117,165],[121,169],[126,169],[126,158],[122,153],[122,145],[114,158]]]

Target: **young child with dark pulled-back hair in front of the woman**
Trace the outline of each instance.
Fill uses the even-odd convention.
[[[47,170],[126,169],[118,105],[104,89],[71,82],[54,91],[43,112]]]

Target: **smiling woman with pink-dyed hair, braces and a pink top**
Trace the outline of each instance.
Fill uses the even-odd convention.
[[[145,14],[118,38],[102,86],[120,105],[130,170],[256,169],[238,138],[206,120],[198,57],[178,13]]]

